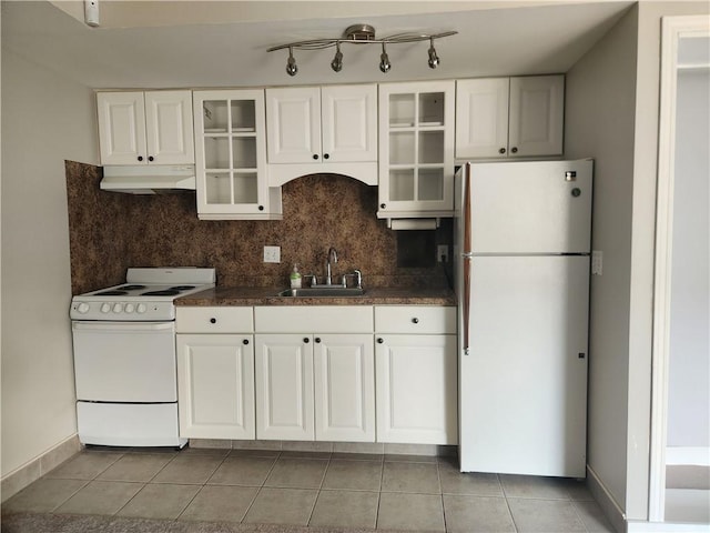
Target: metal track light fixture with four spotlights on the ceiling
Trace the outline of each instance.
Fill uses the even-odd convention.
[[[331,68],[335,72],[339,72],[343,70],[343,52],[341,51],[342,43],[353,43],[353,44],[382,44],[382,53],[379,54],[379,70],[382,72],[389,72],[392,70],[392,63],[389,62],[389,57],[387,56],[386,46],[387,44],[399,44],[404,42],[418,42],[418,41],[429,41],[428,49],[428,64],[430,69],[436,69],[439,64],[439,57],[436,53],[436,49],[434,48],[434,40],[440,39],[443,37],[455,36],[458,33],[457,31],[445,31],[442,33],[434,34],[424,34],[424,33],[397,33],[389,37],[384,37],[382,39],[375,38],[375,28],[369,24],[354,24],[348,27],[343,37],[337,39],[313,39],[310,41],[297,41],[290,42],[287,44],[280,44],[277,47],[272,47],[267,52],[273,52],[275,50],[284,50],[288,49],[288,60],[286,61],[286,72],[288,76],[296,76],[298,72],[298,67],[296,66],[296,60],[293,57],[294,49],[296,50],[323,50],[326,48],[335,47],[335,57],[333,61],[331,61]]]

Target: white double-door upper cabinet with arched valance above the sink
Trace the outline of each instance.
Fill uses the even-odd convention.
[[[377,184],[376,86],[266,89],[266,122],[272,185],[313,172]]]

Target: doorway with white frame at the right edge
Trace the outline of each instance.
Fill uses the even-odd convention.
[[[710,523],[710,19],[662,21],[649,521]]]

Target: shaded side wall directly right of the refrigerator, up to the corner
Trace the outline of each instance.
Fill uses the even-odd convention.
[[[565,110],[565,155],[595,158],[592,249],[604,252],[604,275],[592,276],[590,293],[587,462],[621,509],[626,506],[637,19],[635,9],[567,73]]]

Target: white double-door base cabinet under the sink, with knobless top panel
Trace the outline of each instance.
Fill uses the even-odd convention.
[[[255,308],[256,438],[375,441],[371,306]],[[321,333],[302,333],[308,323]]]

